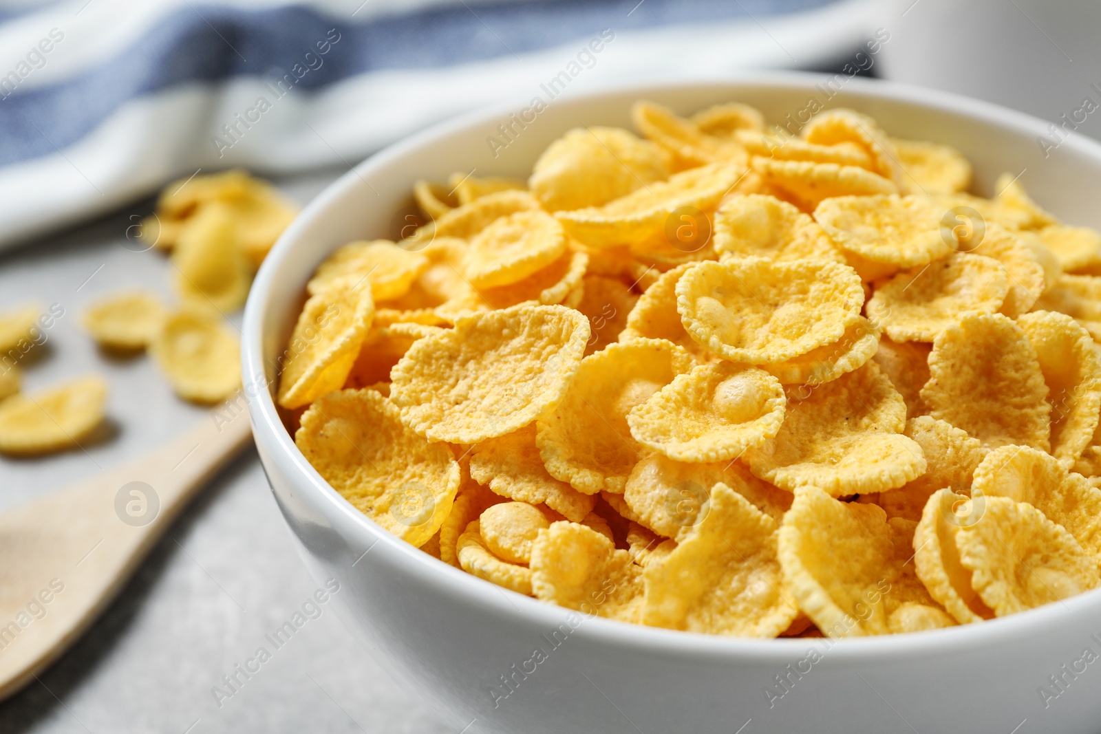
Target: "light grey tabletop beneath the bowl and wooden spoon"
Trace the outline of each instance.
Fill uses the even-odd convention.
[[[340,171],[280,182],[305,202]],[[24,362],[29,391],[88,372],[110,382],[110,430],[87,451],[0,458],[0,510],[137,457],[203,410],[177,399],[149,358],[112,360],[80,328],[85,305],[143,286],[171,297],[165,258],[126,237],[145,202],[0,255],[0,309],[59,304],[64,316]],[[236,317],[240,325],[240,315]],[[0,704],[0,732],[445,732],[416,693],[330,609],[228,700],[212,687],[264,644],[316,584],[251,447],[210,483],[58,662]],[[220,705],[219,705],[220,703]]]

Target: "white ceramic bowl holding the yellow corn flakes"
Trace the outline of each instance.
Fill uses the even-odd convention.
[[[442,563],[361,515],[302,457],[264,388],[310,272],[349,240],[393,237],[395,212],[408,206],[417,178],[444,180],[472,168],[526,176],[570,128],[630,127],[629,108],[640,98],[683,113],[739,100],[770,120],[797,119],[810,99],[827,102],[824,81],[755,75],[556,99],[526,129],[515,127],[495,157],[487,139],[505,142],[498,125],[528,100],[437,125],[333,184],[260,270],[244,316],[243,360],[275,500],[317,580],[339,581],[335,603],[346,624],[456,732],[1024,734],[1101,726],[1101,662],[1081,661],[1086,648],[1101,655],[1101,591],[978,625],[836,642],[731,639],[584,618]],[[1071,138],[1045,158],[1036,136],[1047,125],[1037,119],[861,79],[844,84],[828,106],[868,112],[893,135],[957,146],[974,164],[980,193],[991,194],[1003,171],[1024,171],[1043,206],[1067,221],[1101,226],[1097,143]],[[1050,676],[1061,678],[1058,687]]]

